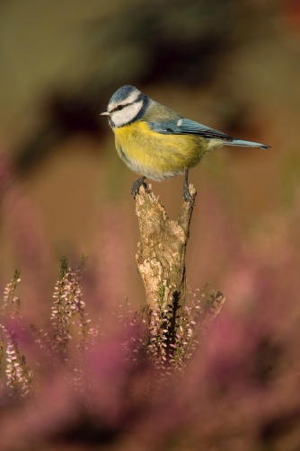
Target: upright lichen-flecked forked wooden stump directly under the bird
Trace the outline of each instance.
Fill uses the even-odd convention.
[[[192,184],[190,194],[195,199]],[[168,305],[178,296],[182,305],[191,293],[186,280],[185,253],[193,204],[183,202],[177,220],[172,221],[150,185],[140,188],[136,211],[140,230],[137,270],[144,282],[146,302],[154,308],[158,301]]]

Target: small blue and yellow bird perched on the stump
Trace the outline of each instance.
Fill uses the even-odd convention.
[[[121,160],[142,175],[131,187],[134,198],[146,178],[163,181],[184,174],[183,199],[192,202],[189,170],[208,152],[224,145],[269,148],[186,119],[130,85],[113,94],[101,115],[108,116]]]

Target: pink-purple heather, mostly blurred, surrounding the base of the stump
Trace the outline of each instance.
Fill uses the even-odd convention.
[[[19,191],[18,208],[24,202]],[[31,287],[19,296],[26,280],[16,270],[1,314],[2,448],[297,449],[299,208],[295,195],[242,241],[216,191],[199,199],[193,219],[206,222],[226,261],[217,281],[226,302],[212,323],[205,309],[223,295],[205,280],[179,314],[176,297],[152,311],[130,294],[108,298],[107,272],[85,254],[72,267],[61,259],[52,295],[41,280],[35,287],[31,259]],[[37,236],[28,234],[25,254]],[[120,268],[126,246],[119,240]],[[43,324],[26,312],[35,289],[48,306]]]

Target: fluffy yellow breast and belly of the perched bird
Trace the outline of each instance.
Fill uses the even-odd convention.
[[[114,128],[119,157],[128,167],[154,181],[163,181],[199,164],[215,148],[195,135],[163,135],[140,120]],[[219,146],[219,145],[218,145]]]

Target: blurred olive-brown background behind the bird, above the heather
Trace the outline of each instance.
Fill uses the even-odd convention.
[[[144,302],[137,175],[99,116],[120,85],[134,84],[190,119],[272,147],[223,147],[190,172],[190,285],[209,280],[229,298],[243,291],[228,282],[241,255],[256,246],[259,261],[277,261],[261,243],[275,252],[296,208],[299,71],[297,0],[1,0],[1,286],[21,268],[24,308],[45,314],[31,282],[45,298],[60,257],[72,264],[86,252],[99,296]],[[182,178],[153,188],[177,217]]]

